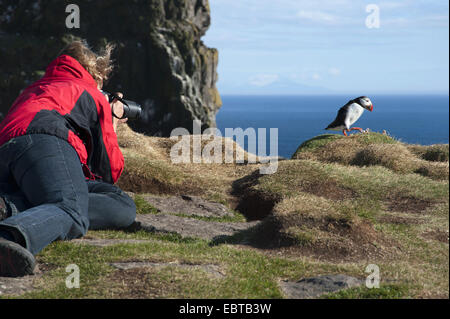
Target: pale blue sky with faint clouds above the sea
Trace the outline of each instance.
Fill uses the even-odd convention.
[[[448,94],[448,0],[209,2],[221,94]]]

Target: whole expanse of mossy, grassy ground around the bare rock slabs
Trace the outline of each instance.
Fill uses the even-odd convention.
[[[197,194],[263,222],[217,241],[90,231],[89,238],[141,241],[105,247],[55,242],[38,255],[45,269],[37,289],[20,297],[284,298],[280,280],[324,274],[365,279],[367,265],[376,264],[380,288],[322,298],[448,298],[448,146],[411,146],[376,133],[325,135],[280,161],[277,173],[261,175],[259,164],[174,165],[168,157],[173,141],[126,127],[119,136],[125,190]],[[360,161],[358,154],[367,150],[376,161]],[[444,173],[425,174],[417,165]],[[139,195],[135,200],[138,213],[155,213]],[[224,276],[111,265],[119,261],[215,265]],[[68,264],[80,267],[79,289],[65,286]]]

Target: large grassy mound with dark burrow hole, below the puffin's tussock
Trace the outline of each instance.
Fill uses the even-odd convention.
[[[379,216],[423,215],[448,196],[448,183],[417,174],[313,160],[280,162],[276,174],[256,171],[235,187],[251,194],[242,213],[263,219],[248,235],[253,245],[333,261],[395,256],[400,245],[377,230]]]

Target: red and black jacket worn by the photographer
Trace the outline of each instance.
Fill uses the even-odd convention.
[[[44,77],[16,99],[0,123],[0,146],[25,134],[68,141],[87,178],[115,183],[123,171],[111,107],[93,77],[68,55],[54,60]]]

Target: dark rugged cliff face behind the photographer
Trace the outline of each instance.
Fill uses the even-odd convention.
[[[66,27],[71,3],[80,9],[79,29]],[[105,90],[142,104],[135,130],[168,136],[176,127],[192,131],[195,119],[202,129],[215,126],[218,51],[200,40],[209,25],[208,0],[0,0],[0,113],[73,35],[94,49],[118,44]]]

